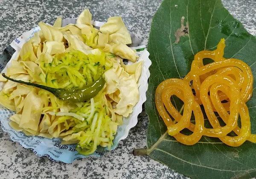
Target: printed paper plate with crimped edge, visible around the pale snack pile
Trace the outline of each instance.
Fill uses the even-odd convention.
[[[69,23],[75,24],[76,19],[62,20],[62,26],[66,26]],[[99,28],[104,23],[93,21],[92,24],[96,28]],[[6,72],[6,68],[11,66],[11,60],[17,57],[18,52],[20,51],[24,43],[26,43],[31,37],[33,37],[35,32],[37,32],[38,30],[40,30],[39,26],[31,29],[30,31],[27,31],[26,33],[22,34],[20,37],[15,39],[11,43],[11,45],[6,47],[2,56],[0,55],[0,71],[3,70],[2,72]],[[118,145],[118,142],[122,139],[125,139],[128,136],[129,130],[137,124],[138,122],[137,117],[142,111],[143,103],[146,101],[146,91],[148,89],[148,78],[150,76],[148,68],[151,65],[151,61],[148,58],[149,53],[145,49],[145,45],[141,44],[140,39],[138,37],[136,37],[131,32],[130,32],[130,35],[132,39],[132,44],[130,45],[130,47],[137,51],[136,53],[140,57],[139,61],[143,60],[142,73],[139,79],[140,100],[134,106],[133,112],[128,117],[126,118],[123,117],[124,124],[121,126],[118,126],[111,150],[116,148],[116,146]],[[130,62],[128,62],[128,64],[129,63]],[[3,85],[4,83],[0,82],[0,90],[2,90]],[[59,138],[47,139],[41,136],[26,136],[23,132],[15,131],[9,126],[8,124],[10,122],[9,117],[12,116],[13,114],[15,114],[14,111],[9,111],[8,109],[0,105],[0,121],[1,121],[1,127],[3,128],[3,131],[8,132],[13,141],[19,142],[20,145],[23,146],[23,148],[28,148],[32,150],[37,156],[47,156],[49,157],[49,159],[56,162],[71,163],[78,158],[85,158],[89,156],[102,157],[105,151],[108,150],[108,148],[102,148],[99,146],[96,152],[94,152],[93,154],[84,156],[79,154],[76,151],[75,149],[76,144],[61,145],[61,139]]]

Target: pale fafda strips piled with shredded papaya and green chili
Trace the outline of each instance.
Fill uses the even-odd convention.
[[[85,9],[76,24],[39,23],[0,81],[0,104],[15,111],[9,125],[28,136],[61,138],[84,155],[111,149],[117,127],[139,101],[137,62],[121,17],[99,29]],[[125,65],[123,59],[130,60]]]

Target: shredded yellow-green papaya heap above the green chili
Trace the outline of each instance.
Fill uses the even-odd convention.
[[[45,85],[52,88],[82,88],[89,86],[102,77],[111,64],[105,60],[105,52],[84,54],[81,51],[70,51],[56,54],[52,63],[41,62],[40,67],[46,76],[40,78]],[[45,80],[44,80],[45,78]]]

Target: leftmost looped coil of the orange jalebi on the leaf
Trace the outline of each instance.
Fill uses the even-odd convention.
[[[172,83],[177,82],[176,80],[180,82],[180,88],[172,86]],[[184,92],[187,91],[188,93],[186,94],[186,96],[191,97],[192,99],[193,99],[193,96],[191,95],[193,94],[191,93],[189,85],[183,80],[169,79],[169,81],[165,82],[163,86],[164,88],[161,88],[161,86],[160,88],[157,88],[158,94],[162,94],[162,97],[159,97],[159,99],[163,99],[163,101],[160,101],[161,102],[160,106],[158,106],[160,107],[158,108],[159,114],[161,117],[163,116],[162,118],[164,119],[165,123],[169,123],[170,121],[172,121],[169,118],[164,118],[166,116],[166,111],[163,107],[164,105],[166,106],[166,109],[169,112],[169,114],[171,114],[171,116],[177,121],[176,124],[169,125],[168,134],[174,136],[175,139],[177,139],[177,141],[183,144],[194,145],[196,142],[198,142],[201,139],[204,131],[204,116],[201,111],[200,105],[198,105],[198,103],[195,101],[191,102],[191,101],[185,100],[183,95]],[[181,89],[181,87],[183,88]],[[163,91],[164,93],[162,93]],[[183,116],[181,116],[180,113],[177,111],[177,109],[175,109],[175,107],[172,105],[171,98],[170,98],[172,95],[176,95],[184,103],[185,102],[191,103],[192,108],[191,108],[191,105],[184,106]],[[197,123],[196,126],[191,122],[189,122],[192,111],[195,115],[195,121]],[[185,128],[184,126],[189,128],[189,130],[193,131],[193,134],[189,136],[181,134],[179,131],[184,129]],[[174,128],[175,130],[173,130]]]

